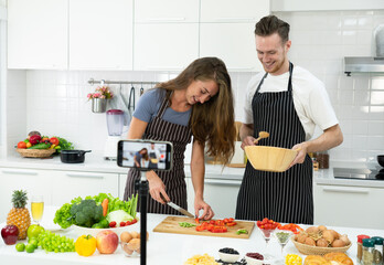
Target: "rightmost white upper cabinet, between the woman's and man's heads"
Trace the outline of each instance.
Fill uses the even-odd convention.
[[[228,71],[260,71],[255,24],[269,14],[269,0],[201,1],[200,56],[222,59]]]

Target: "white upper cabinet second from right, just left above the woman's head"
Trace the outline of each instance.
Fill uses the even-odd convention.
[[[199,57],[199,0],[135,1],[134,68],[183,70]]]

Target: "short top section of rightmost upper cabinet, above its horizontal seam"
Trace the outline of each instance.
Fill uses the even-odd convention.
[[[269,13],[269,0],[202,0],[200,22],[253,22]]]

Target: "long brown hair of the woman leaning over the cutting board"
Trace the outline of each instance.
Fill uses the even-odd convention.
[[[190,126],[194,140],[205,146],[209,156],[228,163],[234,153],[236,136],[231,77],[224,62],[217,57],[202,57],[192,62],[174,80],[157,85],[167,91],[171,104],[172,91],[186,89],[192,81],[214,81],[218,93],[204,104],[194,104]]]

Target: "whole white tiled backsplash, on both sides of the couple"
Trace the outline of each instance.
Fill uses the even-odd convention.
[[[384,74],[343,73],[343,56],[371,56],[373,30],[384,11],[278,12],[291,25],[290,60],[308,68],[327,87],[344,134],[331,160],[366,161],[384,153]],[[249,32],[249,34],[253,34]],[[257,60],[255,53],[255,60]],[[79,149],[102,151],[107,137],[105,114],[93,114],[88,80],[160,82],[175,72],[9,71],[8,141],[30,130],[58,135]],[[231,73],[236,119],[243,115],[246,84],[254,73]],[[25,85],[26,84],[26,85]],[[119,85],[110,85],[119,94]],[[122,85],[128,97],[131,85]],[[142,85],[145,89],[150,85]],[[137,98],[141,85],[135,85]],[[117,100],[117,99],[116,99]],[[115,102],[114,104],[119,104]],[[17,117],[17,118],[15,118]],[[25,126],[26,125],[26,126]],[[316,132],[318,136],[320,131]],[[11,152],[11,147],[9,148]]]

